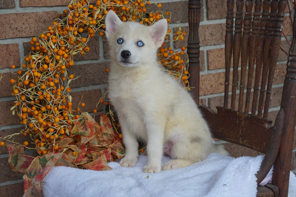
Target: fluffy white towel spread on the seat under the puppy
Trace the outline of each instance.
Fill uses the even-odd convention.
[[[110,162],[111,171],[58,166],[46,175],[44,196],[256,196],[255,174],[263,156],[233,158],[213,153],[202,162],[155,174],[142,172],[147,157],[135,167]],[[169,161],[164,157],[162,163]],[[271,176],[269,176],[269,179]],[[267,180],[268,182],[268,176]],[[289,196],[296,196],[296,177],[290,174]]]

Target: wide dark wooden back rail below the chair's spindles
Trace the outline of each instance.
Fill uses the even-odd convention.
[[[216,113],[205,106],[200,106],[200,109],[215,138],[261,153],[267,152],[273,130],[272,121],[219,106]]]

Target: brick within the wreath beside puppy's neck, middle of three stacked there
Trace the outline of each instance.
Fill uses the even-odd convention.
[[[109,62],[103,62],[72,66],[69,73],[75,74],[79,78],[71,81],[71,88],[106,83],[108,74],[105,72],[105,69],[109,67],[109,64]]]

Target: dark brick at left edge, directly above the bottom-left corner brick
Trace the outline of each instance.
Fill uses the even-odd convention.
[[[22,179],[23,174],[12,171],[8,158],[0,159],[0,182]]]

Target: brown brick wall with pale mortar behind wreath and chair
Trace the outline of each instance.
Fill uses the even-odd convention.
[[[69,2],[69,0],[4,0],[0,2],[0,72],[4,72],[3,79],[0,81],[0,136],[22,128],[18,118],[12,116],[10,111],[14,97],[11,96],[12,86],[8,81],[14,75],[7,72],[5,68],[14,64],[16,65],[14,71],[18,70],[22,57],[29,53],[28,43],[31,38],[39,35],[51,25],[58,14],[67,8]],[[187,1],[160,0],[157,3],[162,3],[162,10],[172,13],[170,29],[174,31],[178,25],[184,27],[185,31],[188,29]],[[203,104],[213,109],[214,106],[221,105],[223,102],[225,13],[226,0],[202,0],[201,99]],[[283,31],[291,35],[291,26],[287,17]],[[185,44],[186,42],[183,41],[174,47],[180,48]],[[75,66],[70,70],[71,73],[81,75],[79,79],[71,83],[71,87],[74,104],[80,101],[81,96],[84,96],[82,99],[87,105],[82,108],[83,111],[91,112],[105,92],[106,87],[102,83],[107,79],[104,70],[109,66],[109,60],[104,45],[105,41],[102,37],[96,35],[89,44],[90,52],[82,57],[76,57]],[[287,49],[289,46],[283,41],[282,47]],[[286,55],[281,52],[277,66],[279,70],[285,70],[286,59]],[[273,120],[279,110],[283,79],[283,74],[276,73],[268,115]],[[98,106],[98,111],[100,110],[104,111],[102,105]],[[24,138],[18,136],[15,140],[22,143]],[[257,154],[230,144],[226,147],[233,156]],[[291,161],[292,170],[295,170],[295,151],[296,143],[294,143]],[[27,154],[33,153],[28,152]],[[21,196],[23,192],[22,174],[12,172],[7,161],[7,149],[0,147],[0,193],[2,196]]]

